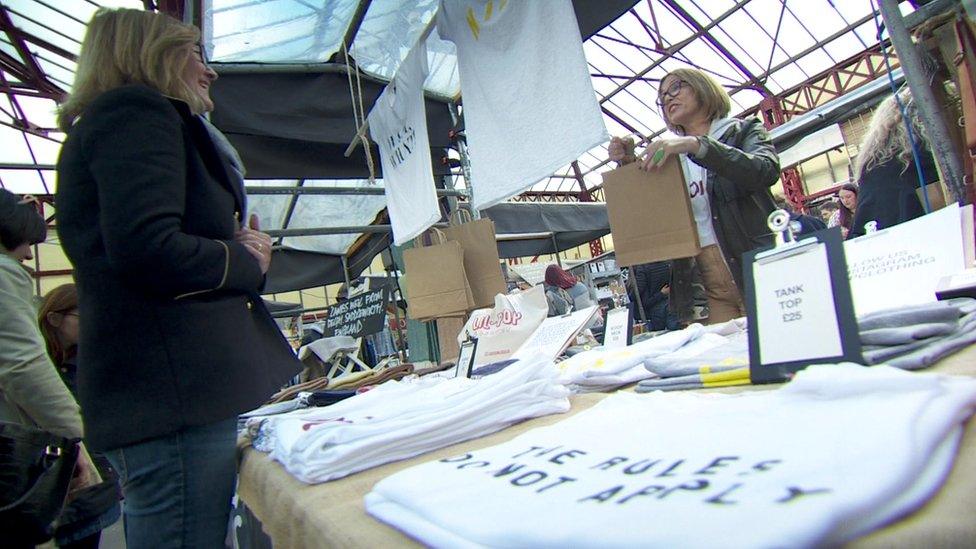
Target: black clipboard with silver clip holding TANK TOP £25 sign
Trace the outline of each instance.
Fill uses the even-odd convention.
[[[810,364],[861,362],[840,229],[744,256],[753,383]]]

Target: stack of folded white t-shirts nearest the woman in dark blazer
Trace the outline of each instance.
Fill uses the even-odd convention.
[[[325,408],[248,421],[253,446],[316,483],[569,410],[551,361],[526,360],[483,379],[388,382]]]

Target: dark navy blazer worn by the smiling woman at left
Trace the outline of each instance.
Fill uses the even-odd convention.
[[[138,85],[96,98],[58,159],[85,438],[107,450],[234,417],[301,364],[234,241],[242,190],[199,118]]]

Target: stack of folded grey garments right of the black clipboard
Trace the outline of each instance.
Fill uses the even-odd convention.
[[[878,311],[859,317],[857,325],[865,364],[917,370],[976,343],[976,299]]]

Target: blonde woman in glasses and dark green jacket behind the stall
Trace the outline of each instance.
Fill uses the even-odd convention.
[[[772,244],[766,217],[776,209],[769,188],[779,178],[779,158],[762,123],[729,118],[728,93],[697,69],[677,69],[661,80],[657,104],[675,136],[652,141],[638,157],[633,142],[610,140],[610,160],[657,169],[679,156],[688,184],[701,253],[710,323],[745,315],[742,254]],[[679,322],[691,318],[692,262],[672,265],[671,303]]]

